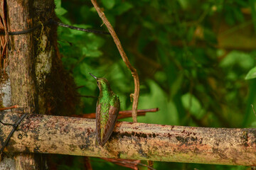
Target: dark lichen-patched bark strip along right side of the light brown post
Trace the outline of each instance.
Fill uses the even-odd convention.
[[[53,58],[55,58],[54,42],[57,42],[55,26],[43,26],[50,18],[55,18],[53,0],[34,0],[32,4],[33,26],[41,25],[33,31],[34,69],[36,74],[36,91],[38,98],[38,113],[46,114],[46,79],[51,74]],[[60,63],[61,64],[61,63]]]

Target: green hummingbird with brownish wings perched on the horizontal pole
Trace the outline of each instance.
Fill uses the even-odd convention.
[[[110,89],[107,79],[89,74],[97,80],[97,86],[100,89],[96,105],[96,143],[103,147],[110,139],[117,122],[120,101],[119,97]]]

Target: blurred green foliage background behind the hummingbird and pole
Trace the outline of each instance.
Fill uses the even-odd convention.
[[[140,79],[139,109],[159,108],[141,123],[255,128],[256,3],[254,0],[98,0]],[[55,0],[63,23],[107,30],[90,1]],[[97,96],[95,79],[105,77],[131,110],[132,74],[110,35],[58,28],[65,69],[81,95]],[[248,74],[249,73],[249,74]],[[247,79],[245,79],[245,77]],[[78,113],[94,113],[96,99],[81,98]],[[125,119],[132,121],[132,118]],[[58,169],[83,169],[82,157]],[[93,169],[124,169],[92,158]],[[155,162],[155,169],[250,169]]]

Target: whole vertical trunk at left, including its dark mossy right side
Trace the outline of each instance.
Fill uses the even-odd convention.
[[[38,25],[41,28],[10,36],[6,69],[9,77],[6,74],[6,79],[0,82],[0,103],[18,105],[26,113],[73,114],[77,94],[73,78],[65,72],[60,60],[57,26],[43,25],[50,18],[56,19],[54,0],[8,0],[6,6],[10,32]],[[4,100],[6,96],[11,99]],[[0,169],[46,169],[45,160],[41,154],[5,155]]]

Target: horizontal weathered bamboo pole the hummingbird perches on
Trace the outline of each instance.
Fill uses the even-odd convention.
[[[1,120],[14,123],[20,116],[4,113]],[[11,128],[0,125],[1,145]],[[100,147],[95,146],[95,120],[31,114],[4,152],[255,166],[256,129],[118,122],[110,141]]]

